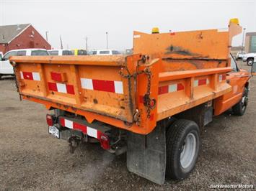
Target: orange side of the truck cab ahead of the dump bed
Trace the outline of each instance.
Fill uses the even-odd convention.
[[[234,57],[230,55],[232,71],[226,74],[226,83],[231,85],[232,90],[224,94],[215,101],[215,115],[219,115],[236,105],[242,99],[244,86],[250,78],[250,74],[246,70],[240,70],[237,67]]]

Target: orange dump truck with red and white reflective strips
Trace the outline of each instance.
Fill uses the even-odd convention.
[[[193,170],[200,131],[229,108],[247,107],[250,73],[229,55],[241,32],[134,32],[133,55],[12,57],[20,96],[42,103],[49,133],[127,152],[130,172],[163,184]]]

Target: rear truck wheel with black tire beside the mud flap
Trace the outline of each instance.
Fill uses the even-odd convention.
[[[194,121],[177,119],[167,131],[167,177],[183,180],[195,167],[200,150],[199,127]]]

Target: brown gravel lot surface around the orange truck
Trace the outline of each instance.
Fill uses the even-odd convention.
[[[186,180],[167,180],[164,185],[128,172],[125,154],[115,157],[98,144],[85,144],[70,154],[66,141],[48,134],[44,106],[19,101],[12,78],[0,80],[0,88],[0,190],[256,188],[256,77],[250,80],[250,101],[244,116],[228,111],[213,118],[203,134],[193,173]]]

